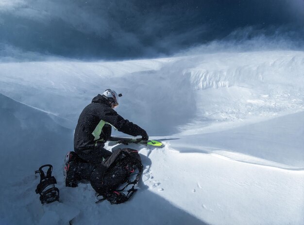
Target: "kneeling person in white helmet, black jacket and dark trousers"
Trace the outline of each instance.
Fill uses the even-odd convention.
[[[149,139],[144,129],[114,110],[120,96],[107,89],[94,97],[80,114],[74,134],[75,152],[68,152],[65,159],[66,186],[77,187],[78,181],[88,180],[96,165],[112,154],[104,148],[104,143],[111,137],[112,127],[132,136],[142,136],[146,141]]]

